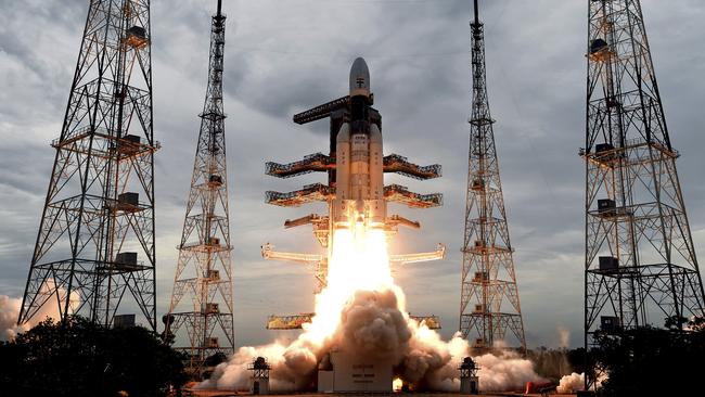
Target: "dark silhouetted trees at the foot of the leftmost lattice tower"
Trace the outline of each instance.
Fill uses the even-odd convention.
[[[0,344],[3,396],[166,396],[187,381],[182,357],[152,332],[82,318],[52,320]]]

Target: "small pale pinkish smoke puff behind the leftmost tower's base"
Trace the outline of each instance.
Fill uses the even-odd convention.
[[[53,282],[48,281],[42,284],[40,292],[47,293],[54,291]],[[59,289],[59,296],[64,296],[65,290]],[[79,303],[78,294],[73,293],[69,303],[69,310],[77,307]],[[8,295],[0,295],[0,341],[13,341],[17,334],[29,331],[39,322],[48,318],[59,319],[59,306],[54,299],[47,302],[36,315],[33,316],[30,321],[17,325],[17,318],[20,317],[20,309],[22,307],[22,298],[13,298]]]

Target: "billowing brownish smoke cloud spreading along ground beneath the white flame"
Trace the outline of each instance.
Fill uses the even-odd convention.
[[[307,342],[305,333],[290,346],[280,342],[259,347],[243,347],[216,369],[202,388],[246,389],[247,366],[265,357],[272,370],[273,392],[303,390],[313,385],[318,362],[337,347],[354,357],[393,359],[395,375],[415,387],[428,390],[458,390],[458,366],[470,354],[467,342],[457,334],[450,342],[425,324],[409,319],[403,293],[394,286],[382,291],[358,291],[341,313],[334,335],[322,345]],[[512,354],[476,358],[482,366],[480,387],[486,390],[522,388],[528,381],[541,380],[530,361]]]

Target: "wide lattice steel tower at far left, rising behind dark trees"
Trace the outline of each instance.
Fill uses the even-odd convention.
[[[52,305],[107,325],[121,307],[156,330],[150,1],[90,2],[52,146],[18,323]]]

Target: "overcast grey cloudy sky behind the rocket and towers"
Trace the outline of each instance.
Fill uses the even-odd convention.
[[[510,232],[530,346],[555,346],[559,329],[581,341],[585,139],[585,0],[484,1],[488,86]],[[644,0],[659,88],[696,247],[705,257],[705,3]],[[206,81],[209,15],[216,0],[154,0],[153,68],[158,309],[166,310]],[[0,295],[23,293],[88,2],[0,0]],[[259,246],[315,251],[310,229],[283,221],[321,207],[264,204],[266,190],[290,191],[321,175],[275,180],[266,161],[290,162],[328,148],[325,121],[291,116],[346,93],[352,60],[372,73],[384,115],[385,152],[440,163],[428,182],[390,176],[445,206],[396,207],[419,219],[395,252],[448,246],[439,262],[396,277],[411,311],[436,313],[450,336],[458,324],[467,161],[470,0],[225,0],[228,14],[226,108],[235,333],[239,345],[268,342],[267,315],[312,309],[311,271],[265,261]]]

